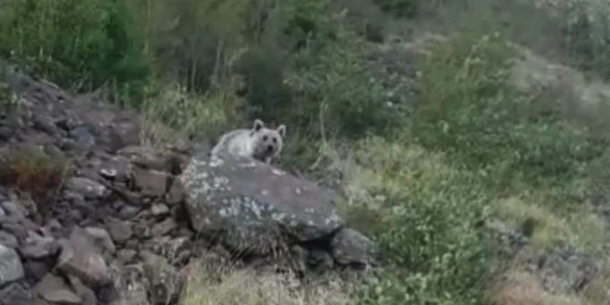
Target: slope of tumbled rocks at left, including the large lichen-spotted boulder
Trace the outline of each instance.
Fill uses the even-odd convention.
[[[301,273],[369,263],[369,241],[317,185],[204,149],[142,146],[132,112],[15,70],[6,79],[19,98],[0,118],[1,305],[124,304],[138,287],[172,304],[196,259]],[[28,167],[19,180],[31,152],[60,171]]]

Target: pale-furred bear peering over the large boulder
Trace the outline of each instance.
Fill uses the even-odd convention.
[[[281,153],[286,137],[286,125],[277,129],[266,128],[260,119],[254,120],[252,129],[238,129],[223,134],[212,148],[211,155],[218,157],[229,153],[240,157],[248,157],[271,164]]]

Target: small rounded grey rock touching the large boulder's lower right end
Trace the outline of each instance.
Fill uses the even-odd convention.
[[[367,265],[371,241],[354,229],[342,229],[331,240],[335,260],[342,265]]]

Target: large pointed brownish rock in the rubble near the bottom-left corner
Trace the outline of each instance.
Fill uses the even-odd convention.
[[[58,270],[74,275],[88,285],[103,286],[110,284],[108,269],[92,236],[85,229],[75,227],[70,239],[64,245],[57,264]]]

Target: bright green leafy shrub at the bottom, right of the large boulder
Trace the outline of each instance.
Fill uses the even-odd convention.
[[[415,164],[392,169],[406,185],[387,193],[377,234],[390,267],[361,291],[360,304],[477,304],[494,266],[483,225],[492,212],[488,189],[469,171]]]

